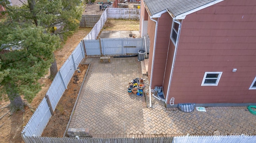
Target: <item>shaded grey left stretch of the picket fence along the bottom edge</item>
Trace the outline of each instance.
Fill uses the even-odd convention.
[[[26,143],[172,143],[173,137],[152,138],[68,138],[27,137]]]

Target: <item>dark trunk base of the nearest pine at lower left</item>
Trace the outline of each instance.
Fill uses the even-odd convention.
[[[19,93],[16,93],[15,90],[12,88],[15,88],[14,86],[11,86],[10,84],[7,85],[6,91],[8,94],[8,98],[10,100],[10,112],[11,114],[18,111],[18,110],[24,110],[24,103],[20,97]]]

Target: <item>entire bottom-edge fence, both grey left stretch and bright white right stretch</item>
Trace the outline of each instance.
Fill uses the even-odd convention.
[[[27,137],[26,143],[255,143],[256,136],[180,136],[151,138]]]

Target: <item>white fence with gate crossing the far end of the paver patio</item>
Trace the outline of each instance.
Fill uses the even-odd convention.
[[[137,54],[139,49],[145,49],[144,38],[104,38],[84,40],[86,55],[127,55]],[[146,38],[146,51],[149,53],[150,40]]]

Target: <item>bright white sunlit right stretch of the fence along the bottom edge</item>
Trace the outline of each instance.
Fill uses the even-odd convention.
[[[256,143],[255,135],[179,136],[172,143]]]

